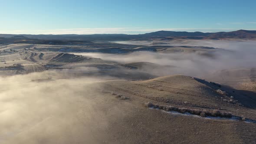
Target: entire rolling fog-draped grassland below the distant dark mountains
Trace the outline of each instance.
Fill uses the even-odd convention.
[[[9,42],[1,144],[256,143],[253,40]]]

